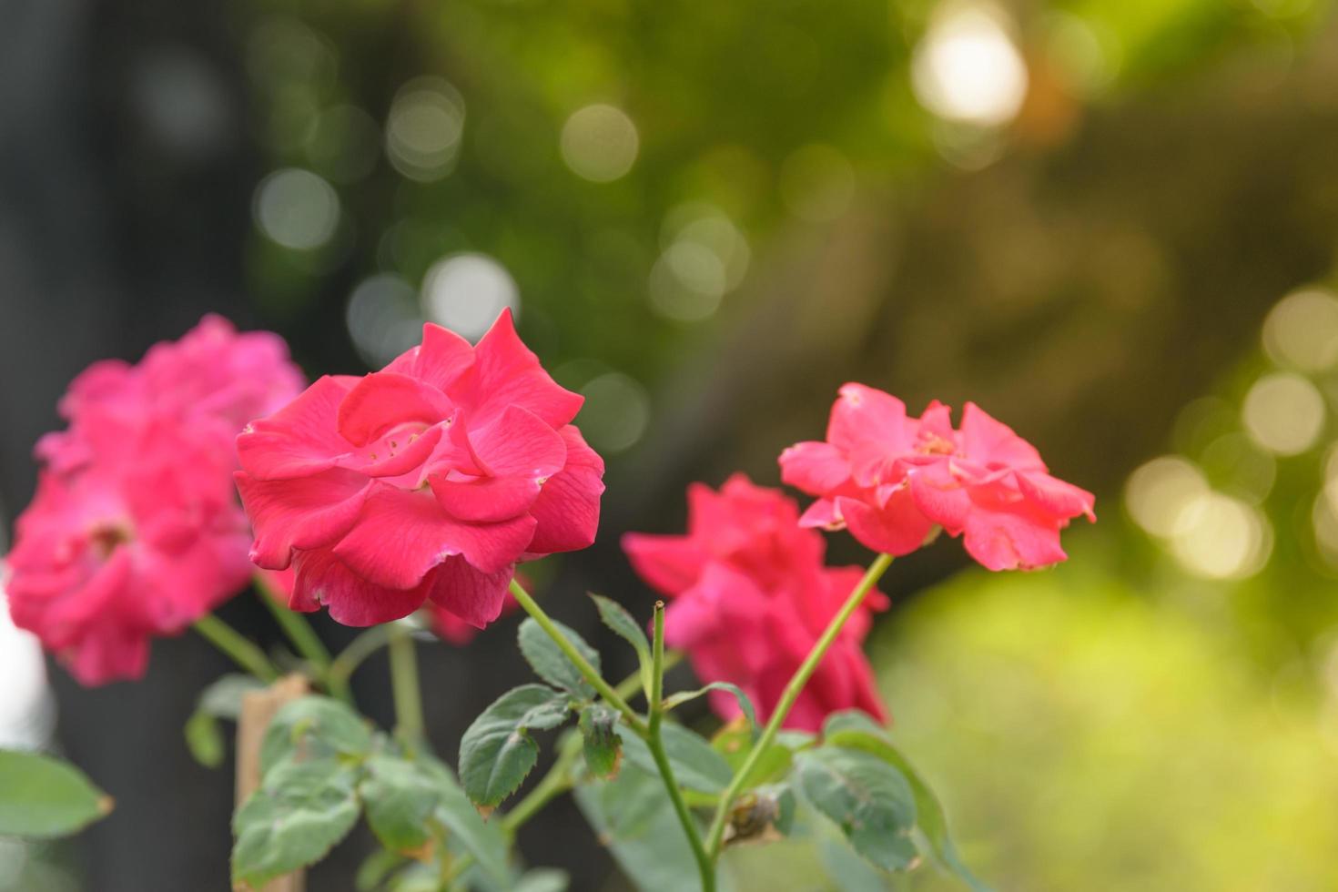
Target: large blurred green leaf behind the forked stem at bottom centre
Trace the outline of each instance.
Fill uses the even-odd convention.
[[[638,889],[701,891],[701,880],[692,868],[692,848],[658,776],[628,765],[615,780],[582,784],[573,796],[599,841],[609,847]],[[732,888],[724,869],[719,888],[720,892]]]

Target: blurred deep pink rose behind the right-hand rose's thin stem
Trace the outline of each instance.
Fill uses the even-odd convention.
[[[688,651],[704,682],[739,685],[767,721],[785,683],[840,610],[863,571],[823,566],[823,538],[799,526],[799,507],[779,489],[744,475],[720,492],[688,489],[688,535],[629,534],[622,547],[633,567],[670,598],[665,641]],[[842,709],[862,709],[880,721],[886,711],[860,649],[871,612],[887,598],[871,591],[827,651],[787,728],[818,730]],[[724,718],[739,714],[733,697],[712,691]]]

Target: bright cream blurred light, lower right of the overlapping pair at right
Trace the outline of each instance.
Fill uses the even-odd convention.
[[[1210,492],[1184,511],[1184,528],[1171,551],[1185,570],[1210,579],[1243,579],[1258,572],[1272,551],[1272,528],[1258,510]]]

